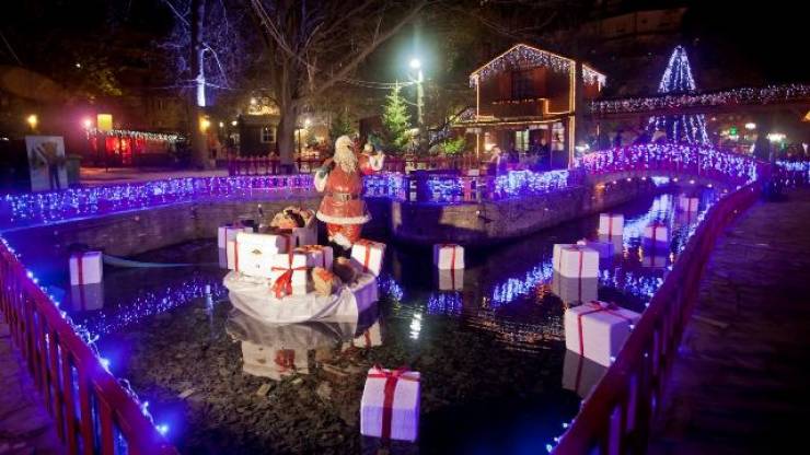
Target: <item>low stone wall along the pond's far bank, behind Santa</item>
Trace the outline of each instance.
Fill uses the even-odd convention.
[[[652,191],[655,186],[649,180],[634,179],[483,203],[441,206],[372,198],[368,200],[372,221],[363,228],[363,236],[385,240],[393,235],[397,241],[416,244],[483,245],[551,228]],[[54,257],[66,256],[73,244],[84,244],[114,256],[131,256],[193,240],[212,238],[217,235],[217,226],[240,215],[256,214],[259,203],[264,213],[271,215],[291,205],[316,209],[320,200],[320,196],[305,195],[281,200],[267,197],[250,201],[183,202],[28,228],[3,235],[21,246],[47,242]],[[321,241],[325,241],[323,232]]]

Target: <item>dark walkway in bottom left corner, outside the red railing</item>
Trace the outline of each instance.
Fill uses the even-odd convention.
[[[0,455],[61,453],[54,420],[0,323]]]

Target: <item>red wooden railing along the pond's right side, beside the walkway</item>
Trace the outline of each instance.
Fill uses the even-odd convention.
[[[701,276],[715,243],[760,194],[761,183],[755,182],[709,209],[616,361],[553,450],[554,454],[646,452],[649,425],[660,404],[684,325],[697,301]]]

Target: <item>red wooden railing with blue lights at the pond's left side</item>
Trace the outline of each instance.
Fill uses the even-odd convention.
[[[3,243],[0,312],[68,453],[177,453]]]

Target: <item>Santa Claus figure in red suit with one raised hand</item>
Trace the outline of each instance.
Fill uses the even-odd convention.
[[[371,215],[362,200],[362,175],[382,168],[384,155],[366,144],[357,154],[348,136],[335,141],[335,155],[315,173],[315,189],[324,192],[317,219],[326,223],[329,242],[350,248],[360,238],[362,225]]]

